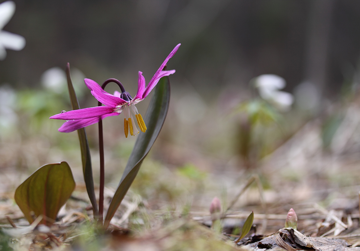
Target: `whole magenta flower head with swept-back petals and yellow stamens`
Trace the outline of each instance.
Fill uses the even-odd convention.
[[[84,82],[91,90],[91,94],[104,106],[90,107],[79,110],[72,111],[63,111],[57,115],[51,116],[50,118],[67,120],[60,128],[59,131],[62,133],[69,133],[80,129],[82,127],[86,127],[89,125],[93,125],[98,123],[100,120],[103,120],[105,117],[109,116],[117,116],[120,113],[124,113],[124,132],[127,138],[129,132],[130,135],[135,136],[139,133],[138,128],[135,125],[134,116],[136,118],[137,124],[142,132],[146,131],[146,125],[143,120],[143,117],[138,112],[138,109],[135,107],[135,104],[142,101],[146,98],[151,90],[156,86],[159,80],[163,76],[168,76],[175,73],[175,70],[165,70],[167,61],[171,59],[172,56],[176,53],[178,48],[180,47],[180,43],[171,51],[171,53],[166,57],[165,61],[161,64],[160,68],[156,71],[155,75],[150,80],[149,84],[145,87],[145,78],[143,73],[139,71],[139,79],[138,79],[138,92],[136,93],[134,98],[131,98],[130,94],[126,92],[125,88],[123,88],[122,84],[118,82],[116,79],[113,79],[112,82],[116,82],[120,89],[121,93],[115,91],[114,95],[107,93],[103,90],[103,88],[96,83],[94,80],[85,79]],[[110,79],[109,79],[110,80]]]

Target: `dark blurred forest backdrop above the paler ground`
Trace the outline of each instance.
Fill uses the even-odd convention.
[[[358,1],[15,3],[5,30],[27,44],[8,51],[0,77],[16,88],[39,88],[45,70],[66,62],[98,82],[136,80],[139,69],[149,78],[182,43],[169,65],[177,70],[174,85],[186,81],[201,96],[247,88],[253,77],[272,73],[287,80],[287,90],[310,81],[334,97],[359,61]]]

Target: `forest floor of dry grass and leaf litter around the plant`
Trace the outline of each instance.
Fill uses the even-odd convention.
[[[100,233],[93,224],[74,134],[60,143],[58,140],[60,146],[64,142],[73,146],[58,148],[46,137],[3,138],[0,245],[2,250],[6,250],[6,245],[8,250],[265,250],[279,248],[276,236],[293,208],[298,218],[297,229],[306,238],[340,238],[347,241],[347,244],[337,243],[341,249],[356,249],[360,245],[360,133],[357,130],[360,109],[355,111],[343,119],[330,149],[323,148],[322,124],[315,119],[248,168],[241,164],[240,157],[211,154],[192,141],[179,145],[166,140],[171,124],[169,128],[165,126],[165,136],[159,137],[145,159],[106,233]],[[118,130],[109,127],[105,142]],[[94,131],[95,128],[89,129],[90,144],[96,141],[91,136]],[[105,146],[105,210],[121,178],[118,170],[125,167],[131,142],[125,146],[116,143]],[[95,149],[92,151],[96,163],[99,157]],[[50,228],[25,228],[28,222],[14,201],[16,187],[43,164],[62,160],[68,161],[76,180],[72,197]],[[96,183],[98,176],[94,176]],[[214,197],[219,197],[222,205],[220,231],[211,228],[209,208]],[[251,231],[235,244],[252,211]],[[251,247],[251,243],[273,234],[271,245]],[[282,230],[282,238],[288,244],[291,234]],[[318,239],[309,240],[312,246],[307,249],[339,249],[334,243],[319,247]],[[306,249],[293,244],[281,247],[292,251],[292,248]]]

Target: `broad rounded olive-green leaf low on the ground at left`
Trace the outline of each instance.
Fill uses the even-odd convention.
[[[60,208],[75,189],[71,169],[66,162],[40,167],[15,191],[15,201],[26,219],[32,223],[33,217],[44,215],[55,220]],[[42,219],[42,224],[52,224]]]

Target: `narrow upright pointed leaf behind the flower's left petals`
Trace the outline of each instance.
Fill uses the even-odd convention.
[[[73,110],[80,109],[79,102],[76,97],[76,93],[71,81],[70,75],[70,64],[68,63],[66,66],[66,76],[70,94],[70,101]],[[91,205],[93,205],[94,215],[98,215],[98,205],[96,204],[96,196],[94,189],[94,178],[93,178],[93,168],[91,166],[91,155],[89,148],[89,141],[87,140],[86,130],[85,128],[81,128],[77,130],[80,141],[80,150],[81,150],[81,160],[82,160],[82,171],[84,173],[84,180],[87,194],[89,195],[89,199],[91,201]]]

